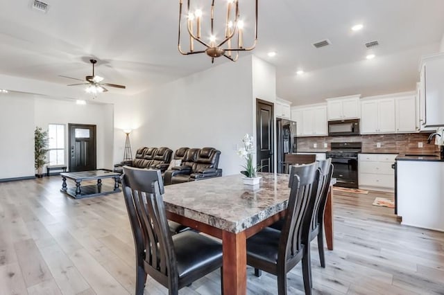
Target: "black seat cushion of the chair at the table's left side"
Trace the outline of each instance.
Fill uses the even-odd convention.
[[[205,269],[218,268],[222,264],[222,244],[194,231],[173,235],[174,250],[178,262],[179,278],[193,276]]]

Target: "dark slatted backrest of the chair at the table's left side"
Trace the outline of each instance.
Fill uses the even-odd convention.
[[[125,197],[138,256],[162,276],[178,276],[176,253],[169,231],[160,170],[123,167]],[[142,264],[144,265],[144,264]]]

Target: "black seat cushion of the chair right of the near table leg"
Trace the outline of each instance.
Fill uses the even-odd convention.
[[[266,227],[247,239],[247,257],[278,262],[280,231]]]

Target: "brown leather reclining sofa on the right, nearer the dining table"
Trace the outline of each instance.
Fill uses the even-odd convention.
[[[181,147],[175,152],[173,158],[181,157],[182,163],[164,172],[165,185],[222,176],[222,169],[218,168],[221,151],[214,147],[190,148],[181,156],[185,149]]]

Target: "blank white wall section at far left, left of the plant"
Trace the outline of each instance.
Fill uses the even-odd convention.
[[[0,179],[34,176],[34,100],[0,93]]]

